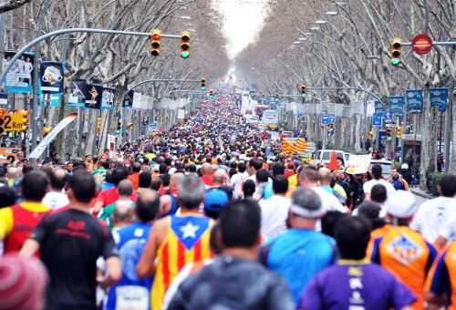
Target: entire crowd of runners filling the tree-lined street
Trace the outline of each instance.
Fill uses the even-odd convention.
[[[456,309],[456,176],[419,205],[399,170],[281,153],[233,101],[0,166],[0,309]]]

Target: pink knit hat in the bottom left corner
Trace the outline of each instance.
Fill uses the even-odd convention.
[[[45,267],[36,258],[0,256],[0,309],[42,309],[47,279]]]

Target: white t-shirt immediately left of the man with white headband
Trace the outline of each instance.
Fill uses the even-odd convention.
[[[284,196],[274,195],[269,199],[261,200],[259,203],[261,208],[261,233],[267,239],[284,233],[291,200]]]

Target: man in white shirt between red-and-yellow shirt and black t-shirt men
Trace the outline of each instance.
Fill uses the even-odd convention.
[[[50,191],[47,191],[43,204],[46,204],[52,210],[66,207],[69,203],[65,185],[67,185],[67,171],[57,168],[48,173]]]

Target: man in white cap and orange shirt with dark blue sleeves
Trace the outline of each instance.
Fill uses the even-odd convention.
[[[388,197],[388,233],[374,241],[372,262],[378,263],[405,284],[417,297],[412,309],[424,309],[424,283],[437,251],[420,233],[409,228],[418,210],[409,191],[395,191]]]

